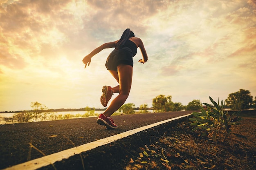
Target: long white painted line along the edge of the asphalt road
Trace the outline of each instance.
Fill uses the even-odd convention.
[[[126,131],[126,132],[123,132],[123,133],[120,133],[120,134],[117,134],[117,135],[114,135],[114,136],[110,136],[110,137],[106,137],[104,139],[99,139],[97,141],[90,142],[88,144],[83,144],[81,146],[77,146],[77,147],[74,147],[74,148],[63,150],[61,152],[57,152],[57,153],[54,153],[54,154],[51,154],[51,155],[47,155],[45,157],[41,157],[41,158],[38,158],[38,159],[27,161],[25,163],[20,163],[18,165],[15,165],[15,166],[3,169],[3,170],[24,170],[24,169],[25,170],[36,170],[38,168],[42,168],[44,166],[54,164],[56,161],[61,161],[62,159],[67,159],[71,156],[80,154],[81,152],[92,150],[92,149],[94,149],[98,146],[109,144],[113,141],[116,141],[116,140],[124,138],[124,137],[128,137],[128,136],[133,135],[137,132],[141,132],[143,130],[153,128],[154,126],[164,124],[168,121],[173,121],[173,120],[176,120],[176,119],[180,119],[182,117],[186,117],[186,116],[189,116],[189,115],[191,115],[191,114],[175,117],[175,118],[164,120],[164,121],[159,121],[157,123],[150,124],[150,125],[147,125],[147,126],[143,126],[141,128],[129,130],[129,131]]]

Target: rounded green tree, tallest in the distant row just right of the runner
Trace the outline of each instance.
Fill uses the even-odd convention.
[[[167,96],[165,97],[165,95],[158,95],[157,97],[155,97],[153,99],[153,109],[156,112],[161,112],[161,111],[171,111],[171,104],[173,104],[173,102],[171,101],[171,96]]]

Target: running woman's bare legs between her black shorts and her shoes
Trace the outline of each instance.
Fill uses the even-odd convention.
[[[128,98],[132,86],[132,66],[120,64],[117,66],[117,74],[114,71],[110,71],[110,73],[115,77],[117,82],[119,82],[119,95],[112,100],[107,110],[103,113],[107,117],[115,113]],[[116,90],[117,86],[114,87],[114,91]]]

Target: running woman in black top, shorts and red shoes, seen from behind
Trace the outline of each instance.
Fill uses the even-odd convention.
[[[88,66],[90,65],[91,58],[94,55],[103,49],[115,48],[108,56],[105,66],[117,80],[118,85],[115,87],[103,86],[100,98],[102,106],[107,106],[113,93],[119,93],[119,95],[112,100],[108,108],[101,113],[97,119],[97,123],[106,126],[106,128],[117,128],[117,125],[110,116],[115,113],[128,98],[132,85],[132,57],[136,55],[138,47],[140,48],[143,57],[143,59],[140,59],[138,62],[144,64],[148,60],[148,55],[143,42],[140,38],[135,37],[130,29],[126,29],[119,40],[104,43],[83,58],[83,63],[86,68],[87,64]]]

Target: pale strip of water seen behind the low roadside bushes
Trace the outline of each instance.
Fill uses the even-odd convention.
[[[135,113],[136,112],[139,112],[141,110],[135,110]],[[153,113],[153,110],[148,110],[149,113]],[[79,115],[84,115],[85,113],[88,113],[87,111],[67,111],[67,112],[53,112],[54,115],[56,117],[64,117],[65,115],[69,115],[68,117],[70,118],[81,118],[81,116]],[[90,117],[96,117],[97,115],[103,113],[102,110],[95,110],[94,111],[94,116],[90,116]],[[119,112],[117,112],[119,113]],[[0,113],[0,124],[6,124],[7,122],[4,120],[3,117],[6,117],[6,118],[9,118],[11,119],[13,117],[15,113]],[[9,123],[12,123],[11,120]],[[17,122],[14,122],[14,123],[17,123]]]

